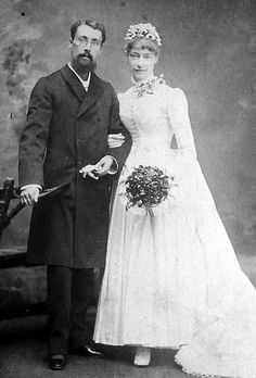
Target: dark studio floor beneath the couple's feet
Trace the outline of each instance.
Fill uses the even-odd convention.
[[[89,319],[90,322],[90,319]],[[47,366],[47,318],[27,316],[0,322],[1,378],[188,378],[174,363],[175,351],[153,350],[149,367],[132,365],[133,348],[104,346],[104,358],[71,355],[66,369]]]

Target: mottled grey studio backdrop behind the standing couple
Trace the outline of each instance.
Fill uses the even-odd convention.
[[[123,91],[130,86],[124,33],[130,23],[151,22],[164,38],[157,74],[188,96],[200,163],[249,273],[254,262],[256,268],[255,14],[253,0],[1,0],[0,184],[17,177],[30,90],[68,61],[71,24],[105,24],[98,74]],[[2,247],[25,245],[28,220],[25,210]]]

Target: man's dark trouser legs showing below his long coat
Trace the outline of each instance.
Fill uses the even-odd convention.
[[[68,348],[88,343],[86,314],[93,298],[93,269],[49,265],[49,353],[67,354]]]

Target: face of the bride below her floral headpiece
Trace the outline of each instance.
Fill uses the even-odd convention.
[[[141,81],[152,76],[154,66],[158,61],[158,53],[152,51],[149,43],[140,40],[135,43],[128,53],[128,62],[131,67],[131,74],[136,81]]]

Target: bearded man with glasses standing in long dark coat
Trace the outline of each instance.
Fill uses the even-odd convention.
[[[49,365],[61,370],[69,348],[88,355],[86,311],[94,267],[103,267],[110,185],[129,142],[107,150],[107,134],[120,130],[113,87],[94,74],[105,41],[102,24],[71,28],[72,61],[40,78],[20,141],[22,201],[35,204],[27,260],[48,264]],[[41,188],[71,182],[57,198],[37,203]]]

